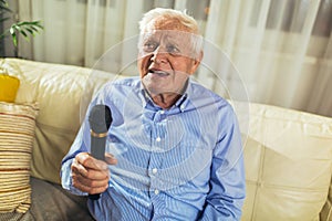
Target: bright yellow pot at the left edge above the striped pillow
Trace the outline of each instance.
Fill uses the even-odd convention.
[[[13,103],[20,86],[20,80],[8,74],[0,74],[0,102]]]

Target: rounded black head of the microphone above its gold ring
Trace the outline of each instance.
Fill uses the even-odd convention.
[[[90,128],[96,133],[107,133],[112,123],[112,114],[108,106],[97,104],[92,107],[89,116]]]

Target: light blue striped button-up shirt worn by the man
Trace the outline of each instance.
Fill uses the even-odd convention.
[[[236,115],[221,97],[189,80],[169,109],[156,106],[138,77],[110,82],[91,103],[112,110],[106,151],[108,189],[89,200],[96,220],[239,220],[245,199],[242,145]],[[62,186],[72,186],[71,164],[90,151],[87,117],[62,161]]]

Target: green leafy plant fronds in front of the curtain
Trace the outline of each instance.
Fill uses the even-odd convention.
[[[10,20],[11,17],[7,14],[14,14],[14,12],[9,8],[7,0],[0,0],[0,22],[3,24],[4,21]],[[17,21],[6,29],[0,39],[3,39],[8,35],[11,35],[12,43],[14,46],[18,46],[18,35],[22,35],[27,41],[35,33],[39,33],[40,30],[43,30],[41,21]]]

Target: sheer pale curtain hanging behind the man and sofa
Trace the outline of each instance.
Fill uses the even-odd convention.
[[[93,67],[116,49],[126,53],[108,61],[114,70],[125,66],[124,74],[136,75],[133,46],[124,42],[137,36],[143,13],[155,7],[187,10],[208,48],[197,81],[226,97],[241,88],[250,102],[332,116],[332,0],[18,2],[19,18],[44,24],[30,44],[20,44],[22,57]]]

